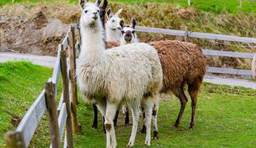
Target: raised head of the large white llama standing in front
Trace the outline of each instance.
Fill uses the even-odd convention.
[[[79,0],[81,8],[81,25],[95,27],[101,22],[99,18],[99,5],[101,0],[97,0],[95,3],[85,3],[85,0]]]

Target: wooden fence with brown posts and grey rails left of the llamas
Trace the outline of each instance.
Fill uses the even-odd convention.
[[[45,111],[48,111],[50,125],[50,147],[61,147],[64,136],[64,147],[73,147],[73,133],[78,133],[76,106],[78,103],[75,80],[75,44],[74,30],[77,25],[71,25],[67,36],[58,45],[57,60],[52,77],[44,84],[45,89],[23,116],[19,126],[14,131],[5,133],[7,147],[28,147]],[[67,58],[68,55],[68,58]],[[59,105],[56,107],[57,86],[60,73],[62,77],[62,92]],[[65,131],[65,132],[64,132]]]

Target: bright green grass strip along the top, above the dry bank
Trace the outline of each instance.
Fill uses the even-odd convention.
[[[57,0],[54,0],[57,1]],[[67,0],[68,2],[78,2],[78,0]],[[4,3],[11,3],[12,0],[2,0],[0,4]],[[15,2],[51,2],[49,0],[16,0]],[[187,0],[109,0],[109,2],[128,2],[128,3],[140,3],[144,4],[147,2],[161,2],[161,3],[171,3],[176,5],[178,8],[188,7]],[[220,13],[223,11],[227,12],[256,12],[256,2],[249,2],[244,0],[242,2],[242,7],[240,8],[240,3],[238,0],[229,0],[229,1],[222,1],[222,0],[192,0],[191,6],[194,8],[198,8],[200,10],[206,12],[216,12]]]

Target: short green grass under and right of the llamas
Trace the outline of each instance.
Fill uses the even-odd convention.
[[[190,101],[187,103],[181,126],[172,127],[178,116],[180,103],[174,96],[160,103],[158,115],[159,140],[150,147],[255,147],[256,146],[256,91],[240,87],[216,86],[204,83],[199,95],[195,129],[189,130]],[[102,121],[98,130],[92,130],[92,106],[78,107],[82,134],[76,136],[75,147],[104,147],[106,136]],[[102,118],[99,118],[102,119]],[[119,147],[128,143],[131,126],[119,118],[116,137]],[[141,127],[142,121],[140,120]],[[145,134],[137,133],[134,147],[144,147]]]

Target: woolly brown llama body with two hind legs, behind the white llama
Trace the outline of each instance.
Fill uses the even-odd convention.
[[[118,46],[117,42],[106,42],[106,48]],[[203,76],[206,73],[206,59],[198,45],[180,41],[157,41],[150,42],[157,49],[164,79],[162,93],[172,92],[180,99],[181,109],[175,122],[177,127],[182,119],[185,105],[188,101],[184,93],[184,86],[189,86],[189,96],[192,99],[192,117],[189,128],[194,126],[195,107],[202,84]]]

